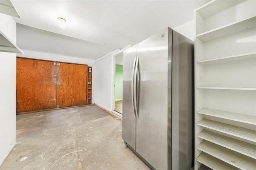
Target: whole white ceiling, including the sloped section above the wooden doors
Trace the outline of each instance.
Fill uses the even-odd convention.
[[[21,16],[14,18],[17,23],[46,30],[18,25],[18,46],[88,59],[97,59],[113,49],[134,45],[168,26],[174,28],[190,21],[194,19],[194,10],[209,1],[11,0]],[[58,27],[59,16],[66,19],[64,29]]]

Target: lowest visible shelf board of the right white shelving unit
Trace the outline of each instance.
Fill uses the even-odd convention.
[[[204,152],[202,152],[196,160],[208,166],[209,168],[212,168],[213,170],[239,170],[239,168],[236,168],[226,162],[223,162],[222,160],[214,158],[213,156],[210,156],[209,154]]]

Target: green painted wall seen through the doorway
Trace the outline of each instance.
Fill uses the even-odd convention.
[[[123,98],[123,66],[116,64],[115,99]]]

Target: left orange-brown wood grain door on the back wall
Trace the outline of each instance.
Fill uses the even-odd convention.
[[[19,112],[56,108],[55,71],[53,62],[17,57]]]

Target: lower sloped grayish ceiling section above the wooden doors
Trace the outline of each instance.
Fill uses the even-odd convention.
[[[97,59],[114,50],[113,47],[92,43],[50,31],[17,24],[17,44],[24,50]]]

